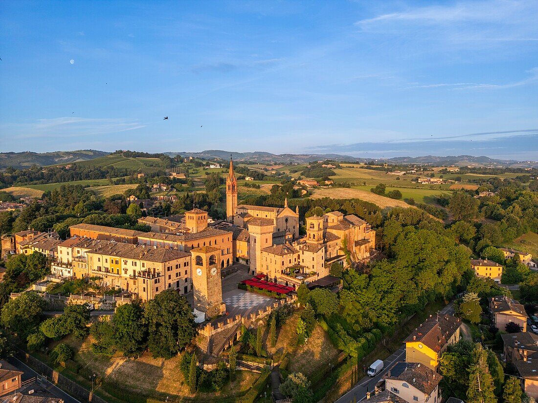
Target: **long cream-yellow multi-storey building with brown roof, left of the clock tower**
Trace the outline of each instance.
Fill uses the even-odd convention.
[[[179,250],[110,243],[86,252],[91,276],[104,286],[137,294],[144,301],[173,289],[192,291],[190,254]]]

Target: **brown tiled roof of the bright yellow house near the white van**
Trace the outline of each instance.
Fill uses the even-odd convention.
[[[438,352],[461,325],[461,320],[451,315],[442,316],[438,321],[430,317],[407,337],[405,343],[420,341]]]

